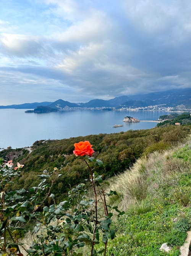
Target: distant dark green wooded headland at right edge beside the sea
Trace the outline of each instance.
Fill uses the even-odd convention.
[[[160,121],[165,120],[165,121],[157,124],[157,127],[175,125],[175,123],[180,123],[181,125],[191,124],[191,116],[189,112],[184,112],[183,114],[180,114],[180,115],[178,115],[177,113],[170,114],[170,115],[163,115],[159,117],[159,120]]]

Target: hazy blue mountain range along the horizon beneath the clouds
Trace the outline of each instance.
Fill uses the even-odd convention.
[[[18,105],[0,106],[2,108],[14,109],[34,109],[37,106],[49,106],[57,109],[64,107],[145,107],[166,104],[168,107],[175,107],[183,104],[187,108],[191,108],[191,88],[173,89],[163,92],[151,92],[149,94],[138,94],[119,96],[110,100],[93,99],[86,103],[72,103],[58,99],[55,102],[34,102]]]

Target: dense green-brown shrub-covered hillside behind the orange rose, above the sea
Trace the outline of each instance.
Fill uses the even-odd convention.
[[[12,188],[24,186],[29,188],[39,182],[37,175],[45,169],[60,169],[62,176],[53,186],[53,192],[59,197],[70,186],[84,182],[89,174],[85,164],[73,154],[74,143],[89,140],[93,144],[94,157],[104,162],[97,172],[103,173],[104,178],[112,177],[131,166],[141,155],[147,155],[155,150],[165,150],[185,139],[190,133],[191,126],[172,126],[153,128],[149,130],[129,130],[116,134],[99,134],[85,137],[76,137],[63,140],[36,141],[32,146],[31,154],[26,150],[2,150],[0,157],[5,160],[19,160],[24,164],[21,177],[16,178]],[[35,178],[34,178],[35,177]],[[59,188],[59,192],[58,192]]]

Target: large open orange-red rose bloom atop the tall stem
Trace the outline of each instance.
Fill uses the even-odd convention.
[[[74,155],[76,155],[76,157],[78,155],[80,155],[80,156],[89,155],[91,157],[92,154],[95,152],[92,149],[92,145],[90,144],[90,142],[88,140],[74,143],[74,147],[75,147],[75,150],[73,150],[73,153],[74,153]]]

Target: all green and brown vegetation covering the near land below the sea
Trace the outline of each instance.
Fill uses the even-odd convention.
[[[1,159],[2,251],[5,255],[35,256],[162,256],[167,254],[159,248],[167,243],[172,248],[169,256],[180,255],[186,231],[191,228],[190,138],[186,142],[190,128],[167,126],[37,141],[31,154],[17,150],[23,152],[19,157],[25,166],[16,172]],[[76,158],[73,144],[79,140],[91,141],[103,166],[92,157]],[[180,145],[181,141],[185,144]],[[8,150],[2,154],[14,157],[14,150]],[[89,161],[89,168],[84,160]],[[122,172],[119,166],[128,169]],[[89,170],[93,190],[87,193],[80,180],[89,178]],[[117,175],[109,179],[110,185],[106,180],[103,186],[103,178],[113,174]],[[38,179],[39,184],[32,187]],[[77,182],[80,184],[74,187]],[[73,188],[67,195],[69,184]],[[87,195],[92,191],[95,195],[95,187],[97,199],[92,200]],[[115,222],[111,222],[116,213]],[[31,223],[36,235],[29,233],[27,242]]]

